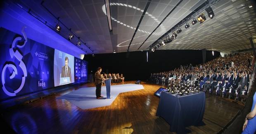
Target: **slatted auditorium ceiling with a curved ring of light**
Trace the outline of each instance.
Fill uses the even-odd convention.
[[[43,5],[93,50],[92,52],[85,45],[81,45],[86,50],[85,54],[97,54],[127,52],[129,44],[130,52],[149,50],[152,43],[205,0],[152,0],[135,33],[147,2],[110,0],[112,32],[109,32],[104,0],[45,0]],[[55,26],[57,20],[42,7],[41,1],[22,0],[20,4]],[[206,49],[219,52],[249,49],[251,45],[248,38],[256,37],[255,7],[253,5],[250,8],[250,5],[250,0],[219,0],[211,6],[215,14],[213,19],[209,19],[204,11],[206,21],[195,25],[189,21],[190,28],[181,26],[182,32],[177,38],[158,49]],[[172,9],[173,12],[157,28]],[[69,31],[63,30],[60,34],[67,36]],[[75,43],[75,40],[73,42]]]

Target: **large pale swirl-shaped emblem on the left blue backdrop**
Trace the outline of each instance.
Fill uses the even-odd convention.
[[[17,44],[17,47],[22,48],[26,45],[26,42],[28,41],[28,38],[26,36],[26,33],[24,32],[24,29],[26,27],[24,26],[21,30],[21,33],[23,34],[25,41],[23,45],[19,45],[17,44],[19,40],[21,40],[21,37],[16,37],[13,41],[12,41],[12,47],[9,49],[9,53],[11,58],[13,59],[14,57],[19,60],[19,67],[22,70],[22,73],[24,75],[22,75],[22,80],[21,80],[21,85],[19,86],[18,89],[14,89],[14,93],[13,92],[9,92],[6,87],[5,87],[5,72],[8,69],[9,71],[12,71],[11,75],[10,75],[10,79],[13,79],[15,77],[15,75],[18,75],[18,71],[17,68],[14,63],[10,63],[10,61],[6,61],[5,62],[5,66],[2,69],[2,90],[5,92],[5,94],[7,94],[8,96],[16,96],[16,94],[18,92],[21,91],[21,89],[24,87],[25,84],[25,80],[27,77],[27,69],[25,66],[25,63],[22,61],[23,55],[17,50],[14,49],[15,45]]]

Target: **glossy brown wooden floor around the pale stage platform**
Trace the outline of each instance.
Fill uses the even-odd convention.
[[[135,81],[125,82],[134,83]],[[115,85],[115,84],[114,84]],[[40,134],[165,134],[170,125],[156,115],[159,98],[154,92],[161,87],[142,82],[145,89],[119,94],[110,106],[82,110],[57,97],[80,87],[94,87],[86,83],[32,103],[5,109],[2,117],[18,133]],[[204,123],[190,126],[192,133],[217,133],[244,106],[217,96],[206,96]],[[242,129],[242,126],[241,126]]]

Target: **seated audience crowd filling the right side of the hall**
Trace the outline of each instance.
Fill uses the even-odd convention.
[[[186,83],[206,94],[245,100],[254,81],[252,53],[229,54],[204,64],[180,66],[172,71],[151,73],[150,80],[168,90]]]

